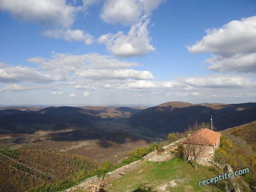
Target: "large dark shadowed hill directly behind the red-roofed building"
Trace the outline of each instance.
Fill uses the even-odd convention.
[[[167,102],[144,109],[131,117],[128,123],[138,129],[170,133],[183,132],[188,124],[211,123],[220,131],[256,120],[256,103],[241,104],[191,104]]]

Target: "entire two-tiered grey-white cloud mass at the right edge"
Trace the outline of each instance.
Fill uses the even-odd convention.
[[[256,16],[233,20],[219,29],[208,29],[207,35],[188,51],[211,52],[213,58],[205,67],[219,72],[256,72]]]

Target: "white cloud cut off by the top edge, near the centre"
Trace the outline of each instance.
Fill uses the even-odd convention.
[[[143,14],[151,14],[165,0],[107,0],[102,7],[100,18],[107,23],[131,25],[138,22]]]

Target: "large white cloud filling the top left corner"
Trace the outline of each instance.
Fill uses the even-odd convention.
[[[0,10],[7,11],[21,21],[38,22],[46,26],[70,27],[80,7],[65,0],[1,0]]]

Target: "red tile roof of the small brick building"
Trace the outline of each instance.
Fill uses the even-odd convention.
[[[191,143],[193,142],[193,138],[197,137],[194,141],[197,142],[197,144],[205,145],[209,144],[211,146],[215,145],[216,142],[220,138],[220,133],[212,131],[210,129],[201,129],[196,132],[194,132],[192,135],[190,135],[188,138],[186,138],[183,143]],[[200,137],[198,137],[200,136]]]

